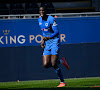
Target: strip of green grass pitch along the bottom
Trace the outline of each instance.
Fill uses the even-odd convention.
[[[100,86],[100,77],[90,78],[70,78],[65,79],[69,88],[96,88]],[[19,82],[0,82],[0,89],[33,89],[33,88],[57,88],[59,79],[50,80],[32,80],[32,81],[19,81]],[[100,87],[98,87],[100,89]]]

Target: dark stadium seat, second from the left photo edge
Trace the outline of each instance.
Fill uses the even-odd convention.
[[[10,4],[10,14],[24,14],[25,10],[22,3]]]

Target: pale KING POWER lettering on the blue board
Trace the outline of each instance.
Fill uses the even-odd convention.
[[[29,43],[32,43],[35,41],[36,43],[41,43],[42,42],[42,35],[29,35]],[[60,42],[66,42],[66,35],[65,34],[60,34]],[[0,44],[24,44],[26,42],[26,39],[24,35],[19,35],[18,37],[15,36],[0,36]],[[28,44],[28,43],[27,43]]]

